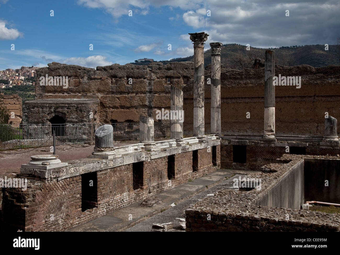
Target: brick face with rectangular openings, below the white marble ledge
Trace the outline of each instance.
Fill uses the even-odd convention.
[[[175,177],[171,182],[167,174],[168,156],[144,161],[142,166],[143,186],[135,190],[133,163],[97,171],[96,202],[85,211],[82,211],[82,185],[89,185],[89,180],[82,183],[82,175],[60,181],[34,180],[26,191],[7,189],[5,229],[63,231],[217,169],[212,166],[211,151],[206,148],[199,149],[196,172],[192,172],[191,151],[175,154]]]

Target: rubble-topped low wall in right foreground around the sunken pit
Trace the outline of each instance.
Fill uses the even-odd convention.
[[[304,202],[301,190],[304,157],[338,160],[331,156],[283,155],[276,163],[265,165],[270,173],[247,175],[261,179],[259,190],[232,188],[232,177],[227,187],[185,211],[186,231],[339,232],[338,214],[300,209]]]

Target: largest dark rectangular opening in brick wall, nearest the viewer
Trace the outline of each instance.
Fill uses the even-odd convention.
[[[97,172],[84,173],[82,178],[82,211],[95,208],[98,202]]]

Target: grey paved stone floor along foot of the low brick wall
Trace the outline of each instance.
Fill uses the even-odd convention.
[[[155,195],[163,200],[156,206],[140,207],[142,202],[140,201],[67,231],[145,232],[151,231],[153,223],[167,222],[174,223],[174,228],[169,229],[169,231],[184,231],[180,227],[180,219],[185,218],[185,209],[190,204],[195,204],[222,188],[231,187],[234,178],[227,180],[225,177],[230,178],[235,174],[246,174],[247,172],[249,171],[220,169]]]

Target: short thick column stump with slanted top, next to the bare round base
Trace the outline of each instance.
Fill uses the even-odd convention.
[[[114,137],[112,125],[102,125],[95,132],[95,148],[92,156],[95,158],[115,157]]]

